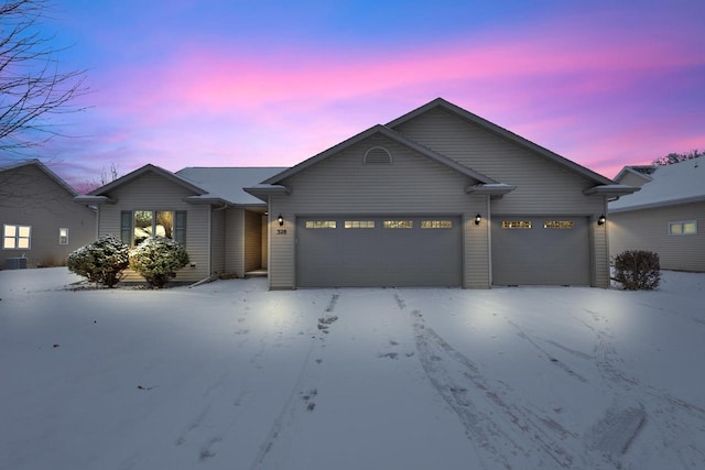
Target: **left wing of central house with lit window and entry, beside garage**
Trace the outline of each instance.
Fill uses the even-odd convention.
[[[188,167],[172,173],[144,165],[74,200],[98,208],[97,232],[133,247],[152,234],[186,245],[191,263],[175,281],[267,269],[267,204],[243,192],[284,168]],[[126,281],[142,281],[128,270]]]

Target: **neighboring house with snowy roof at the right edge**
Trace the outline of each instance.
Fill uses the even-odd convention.
[[[662,269],[705,272],[705,157],[626,166],[615,179],[641,189],[609,203],[610,254],[654,251]]]

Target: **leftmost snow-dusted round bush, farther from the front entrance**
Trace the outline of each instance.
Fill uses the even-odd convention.
[[[90,282],[113,287],[128,267],[130,249],[112,234],[106,234],[68,255],[68,270]]]

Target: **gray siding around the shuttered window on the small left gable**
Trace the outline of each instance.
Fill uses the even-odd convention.
[[[99,208],[99,233],[120,236],[122,210],[186,210],[186,251],[191,263],[176,273],[175,281],[195,282],[210,275],[210,206],[191,205],[183,200],[193,194],[153,173],[148,173],[128,185],[116,188],[108,196],[117,204],[104,204]],[[124,281],[143,281],[138,273],[128,270]]]

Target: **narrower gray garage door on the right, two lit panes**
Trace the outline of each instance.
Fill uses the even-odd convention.
[[[492,219],[492,284],[589,285],[586,217]]]

